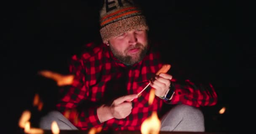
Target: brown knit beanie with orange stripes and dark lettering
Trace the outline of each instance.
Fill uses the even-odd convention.
[[[132,0],[104,0],[100,11],[100,33],[104,43],[127,31],[148,30],[145,16]]]

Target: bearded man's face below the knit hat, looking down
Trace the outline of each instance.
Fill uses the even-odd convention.
[[[147,31],[132,30],[110,39],[107,43],[117,59],[126,65],[140,62],[147,53]]]

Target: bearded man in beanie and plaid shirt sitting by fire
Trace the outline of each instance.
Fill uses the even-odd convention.
[[[131,0],[105,0],[100,17],[103,43],[89,43],[72,57],[75,80],[57,103],[58,111],[43,117],[40,127],[51,129],[57,121],[60,129],[140,130],[166,103],[178,105],[161,119],[161,131],[205,131],[198,107],[216,104],[214,89],[197,88],[189,80],[181,85],[168,73],[155,76],[164,63],[148,40],[140,8]],[[155,98],[149,104],[152,88]]]

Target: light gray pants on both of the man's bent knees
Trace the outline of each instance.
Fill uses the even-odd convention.
[[[61,130],[78,130],[67,118],[58,111],[51,111],[40,120],[40,128],[51,129],[51,123],[56,121]],[[198,108],[177,105],[161,119],[160,131],[205,131],[204,116]]]

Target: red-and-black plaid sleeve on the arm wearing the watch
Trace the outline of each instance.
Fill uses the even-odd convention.
[[[211,85],[198,84],[185,80],[183,84],[179,84],[175,79],[172,80],[174,86],[174,95],[170,101],[165,101],[168,104],[186,104],[189,106],[213,106],[217,103],[216,92]]]

